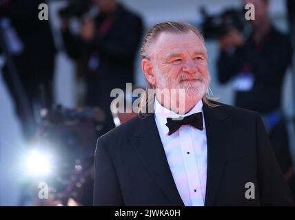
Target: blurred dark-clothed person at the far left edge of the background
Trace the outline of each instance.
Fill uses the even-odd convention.
[[[42,0],[0,1],[3,80],[27,140],[37,129],[40,110],[52,104],[56,48],[48,21],[37,19]]]

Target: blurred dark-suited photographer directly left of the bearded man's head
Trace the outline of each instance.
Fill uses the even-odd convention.
[[[82,2],[81,2],[82,3]],[[78,33],[70,31],[70,8],[60,12],[65,50],[79,63],[85,78],[87,106],[105,111],[102,133],[114,128],[110,91],[134,82],[134,60],[143,32],[141,18],[115,0],[83,1],[90,12],[81,13]],[[87,7],[85,7],[87,8]]]

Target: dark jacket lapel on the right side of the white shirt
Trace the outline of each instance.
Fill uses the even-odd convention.
[[[207,135],[207,186],[205,206],[214,206],[214,199],[219,183],[227,152],[230,148],[232,133],[232,116],[224,112],[221,107],[203,105],[205,127]]]

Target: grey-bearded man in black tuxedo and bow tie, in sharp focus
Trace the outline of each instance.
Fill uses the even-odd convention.
[[[207,52],[196,28],[154,25],[141,56],[156,89],[141,111],[154,111],[99,138],[94,206],[292,205],[258,113],[207,98]]]

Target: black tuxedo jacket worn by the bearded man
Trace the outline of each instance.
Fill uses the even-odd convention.
[[[225,104],[204,104],[203,113],[207,133],[205,206],[292,205],[291,192],[258,113]],[[95,157],[94,206],[184,206],[154,114],[134,118],[100,137]],[[254,193],[247,199],[249,182],[254,184],[250,184]]]

